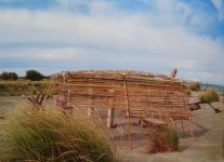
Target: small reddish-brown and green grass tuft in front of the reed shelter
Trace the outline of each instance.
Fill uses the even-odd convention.
[[[179,150],[179,135],[175,129],[150,129],[149,145],[146,147],[146,151],[148,153],[168,152],[176,150]]]

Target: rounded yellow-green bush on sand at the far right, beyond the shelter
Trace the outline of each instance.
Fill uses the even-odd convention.
[[[212,102],[219,102],[219,95],[215,90],[207,90],[200,95],[200,102],[201,103],[212,103]]]

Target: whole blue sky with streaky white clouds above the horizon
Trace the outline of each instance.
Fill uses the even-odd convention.
[[[0,72],[128,69],[224,85],[224,0],[0,0]]]

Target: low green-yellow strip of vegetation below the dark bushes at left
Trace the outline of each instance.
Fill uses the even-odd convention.
[[[28,91],[31,94],[44,93],[49,90],[50,80],[44,81],[0,81],[0,96],[17,96],[26,94]]]

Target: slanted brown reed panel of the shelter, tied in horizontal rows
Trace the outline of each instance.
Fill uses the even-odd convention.
[[[135,71],[84,70],[53,75],[58,96],[76,108],[115,108],[130,117],[190,118],[182,81]]]

